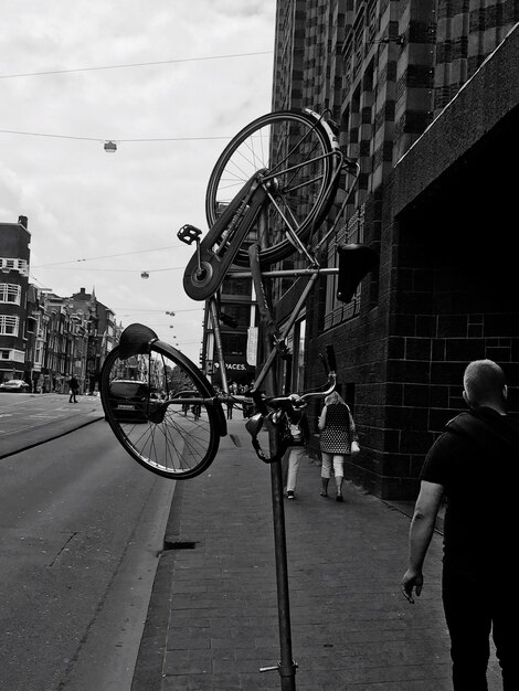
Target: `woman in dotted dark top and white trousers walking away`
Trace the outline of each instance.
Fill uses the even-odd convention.
[[[333,466],[337,497],[342,502],[342,482],[345,479],[345,459],[358,453],[359,440],[350,408],[337,391],[325,398],[325,406],[319,417],[321,451],[321,497],[328,497],[328,483]]]

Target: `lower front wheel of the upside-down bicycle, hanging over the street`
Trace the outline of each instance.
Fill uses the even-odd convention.
[[[225,434],[222,406],[197,366],[162,341],[120,358],[116,347],[100,374],[105,419],[141,466],[174,480],[210,466]],[[222,424],[223,421],[223,424]]]

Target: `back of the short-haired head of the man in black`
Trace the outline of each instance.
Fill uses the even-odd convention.
[[[492,360],[475,360],[465,369],[463,375],[463,397],[468,406],[491,407],[505,412],[507,384],[505,373]]]

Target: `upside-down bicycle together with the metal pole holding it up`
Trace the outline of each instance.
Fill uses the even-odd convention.
[[[286,691],[295,689],[297,665],[292,657],[283,479],[277,461],[292,442],[289,419],[294,410],[336,387],[333,350],[327,347],[327,358],[322,357],[327,382],[317,391],[277,395],[273,371],[276,359],[286,352],[286,339],[318,277],[338,274],[337,296],[349,301],[357,284],[374,266],[377,255],[364,245],[338,247],[338,267],[321,267],[318,261],[320,247],[336,231],[358,173],[358,164],[340,150],[333,124],[313,110],[271,113],[243,128],[211,173],[205,200],[208,234],[201,240],[201,231],[192,225],[178,232],[182,242],[197,245],[183,287],[189,297],[209,306],[223,391],[216,392],[188,358],[137,323],[124,330],[100,376],[105,417],[117,439],[145,468],[172,479],[193,478],[213,461],[220,438],[226,434],[222,404],[254,405],[255,413],[245,427],[256,455],[271,466],[282,650],[280,662],[261,671],[277,669]],[[350,179],[351,185],[336,221],[319,238],[316,231],[333,203],[341,177]],[[306,261],[304,267],[269,268],[294,252]],[[250,395],[231,395],[225,376],[218,294],[230,274],[252,278],[263,327],[265,359]],[[279,331],[264,281],[283,276],[306,276],[308,280]],[[116,384],[121,379],[139,380],[141,394],[121,395]],[[268,433],[268,453],[261,447],[262,429]]]

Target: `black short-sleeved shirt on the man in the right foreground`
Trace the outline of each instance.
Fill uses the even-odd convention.
[[[519,430],[491,408],[462,413],[431,447],[421,479],[447,498],[445,566],[488,575],[509,564],[519,515]]]

